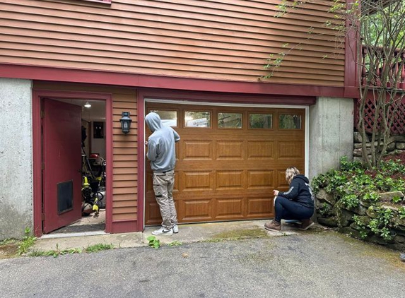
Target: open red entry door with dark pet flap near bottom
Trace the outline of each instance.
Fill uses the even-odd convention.
[[[81,107],[43,100],[43,230],[81,218]]]

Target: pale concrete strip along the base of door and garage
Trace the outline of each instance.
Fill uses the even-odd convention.
[[[253,231],[264,230],[271,237],[287,236],[302,232],[293,225],[284,224],[281,232],[271,232],[264,229],[264,223],[269,220],[246,220],[235,222],[210,222],[179,225],[179,232],[172,236],[156,236],[160,244],[170,244],[171,242],[182,242],[182,244],[192,242],[204,242],[218,238],[226,238],[223,235],[237,234],[243,230],[245,238],[249,238],[249,230],[252,230],[252,237],[255,237]],[[159,227],[146,227],[143,232],[106,234],[104,232],[89,232],[76,234],[54,234],[44,235],[35,242],[30,251],[50,251],[64,249],[86,249],[95,244],[112,244],[115,248],[128,248],[147,246],[148,238],[152,232]],[[314,227],[312,227],[313,229]],[[246,233],[247,232],[247,233]]]

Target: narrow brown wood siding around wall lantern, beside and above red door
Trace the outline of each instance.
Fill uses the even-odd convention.
[[[136,91],[127,88],[102,87],[100,85],[54,84],[35,82],[35,89],[85,91],[112,94],[112,223],[117,220],[138,220],[138,155]],[[131,113],[131,131],[122,133],[119,119],[122,112]]]

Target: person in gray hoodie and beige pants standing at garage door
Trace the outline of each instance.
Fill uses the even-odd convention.
[[[153,191],[163,220],[162,227],[152,234],[169,236],[179,232],[172,191],[175,184],[175,143],[180,141],[180,136],[171,127],[164,126],[154,112],[147,114],[145,121],[152,131],[145,143],[148,146],[146,157],[151,161]]]

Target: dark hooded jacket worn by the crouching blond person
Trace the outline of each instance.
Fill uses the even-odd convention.
[[[314,208],[314,196],[310,181],[304,175],[295,176],[290,183],[290,189],[288,191],[280,191],[278,196],[297,201],[305,207]]]

